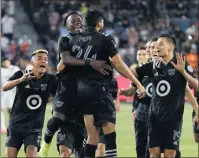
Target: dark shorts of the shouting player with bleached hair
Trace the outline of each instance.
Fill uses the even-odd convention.
[[[22,144],[24,144],[24,151],[28,145],[34,145],[40,149],[42,133],[28,133],[28,132],[17,132],[14,129],[7,130],[7,137],[6,137],[6,147],[14,147],[18,151],[20,150]]]

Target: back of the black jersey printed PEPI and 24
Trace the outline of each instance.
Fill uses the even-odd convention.
[[[72,39],[72,55],[84,60],[103,60],[110,64],[109,57],[114,56],[117,50],[112,48],[114,40],[110,35],[94,30],[88,30]],[[91,67],[81,68],[80,76],[89,81],[109,82],[112,79],[112,71],[109,75],[102,75]],[[89,75],[88,75],[89,74]]]

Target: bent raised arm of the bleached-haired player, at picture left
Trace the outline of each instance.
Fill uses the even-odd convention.
[[[24,81],[31,80],[32,78],[35,78],[35,76],[32,76],[32,72],[23,73],[22,71],[17,71],[9,80],[3,85],[2,89],[3,91],[8,91],[19,84],[21,84]]]

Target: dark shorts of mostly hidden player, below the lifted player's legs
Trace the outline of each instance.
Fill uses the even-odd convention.
[[[83,145],[84,138],[86,137],[86,129],[82,126],[67,123],[63,125],[57,134],[57,149],[59,146],[64,145],[72,151],[80,150]]]

